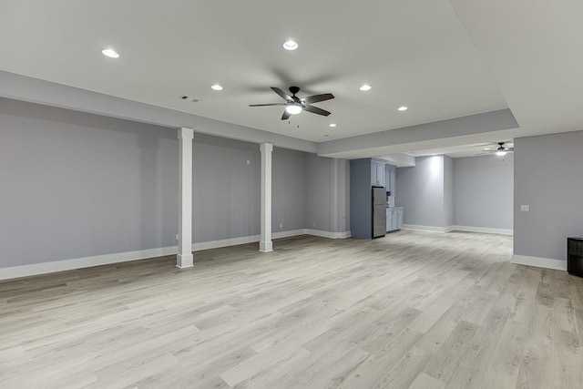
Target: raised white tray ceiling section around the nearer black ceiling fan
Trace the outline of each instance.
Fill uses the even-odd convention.
[[[506,108],[447,0],[5,1],[0,68],[312,141]],[[281,47],[288,37],[300,48]],[[102,56],[113,47],[117,60]],[[210,85],[220,83],[215,92]],[[363,83],[373,89],[359,90]],[[281,121],[270,87],[332,92]],[[198,103],[180,100],[181,95]],[[409,110],[398,112],[399,106]],[[337,128],[328,124],[336,123]],[[299,126],[299,128],[298,128]],[[328,137],[325,137],[328,135]]]

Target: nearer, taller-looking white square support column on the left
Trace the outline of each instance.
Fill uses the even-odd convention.
[[[191,268],[192,258],[192,128],[179,128],[179,254],[176,266]]]

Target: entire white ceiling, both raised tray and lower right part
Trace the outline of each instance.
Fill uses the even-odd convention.
[[[501,139],[583,129],[583,2],[292,5],[0,0],[0,70],[320,142],[318,149],[353,137],[343,139],[354,139],[343,158],[462,156]],[[281,48],[289,37],[298,50]],[[121,57],[102,56],[105,47]],[[210,89],[217,82],[223,91]],[[373,89],[359,91],[363,83]],[[289,124],[281,107],[248,107],[280,102],[270,87],[291,85],[302,87],[301,97],[332,92],[335,99],[316,104],[332,115],[304,112]],[[398,112],[401,105],[409,110]],[[470,125],[454,138],[443,125],[423,142],[406,137],[411,126],[504,108],[519,127],[488,130],[476,121],[480,131]],[[359,148],[359,137],[395,128],[404,132],[399,143]]]

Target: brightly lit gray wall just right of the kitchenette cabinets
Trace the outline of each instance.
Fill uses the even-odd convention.
[[[395,205],[404,224],[445,227],[444,156],[419,157],[414,168],[397,168]]]

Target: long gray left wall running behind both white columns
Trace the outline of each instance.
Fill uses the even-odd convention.
[[[0,267],[176,245],[178,159],[174,128],[0,98]],[[273,231],[331,230],[331,161],[274,149]],[[258,144],[197,133],[193,176],[195,242],[260,233]]]

